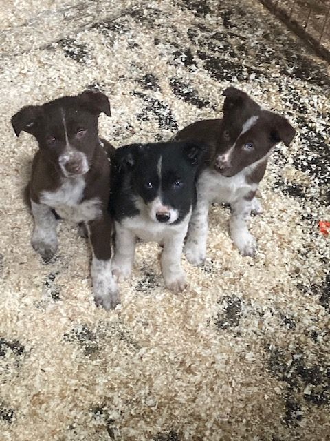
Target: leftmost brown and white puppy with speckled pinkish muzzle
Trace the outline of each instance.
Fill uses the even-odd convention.
[[[56,214],[87,227],[95,301],[110,309],[119,302],[111,273],[113,228],[107,211],[115,149],[98,137],[100,112],[111,116],[107,96],[85,91],[23,107],[11,121],[17,136],[28,132],[39,143],[27,187],[34,217],[32,247],[44,260],[56,254]]]

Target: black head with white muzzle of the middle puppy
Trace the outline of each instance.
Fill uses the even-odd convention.
[[[177,224],[195,201],[195,178],[206,147],[172,142],[118,149],[140,212],[155,223]]]

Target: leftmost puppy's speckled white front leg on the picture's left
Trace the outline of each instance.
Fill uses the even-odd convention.
[[[43,260],[50,260],[58,247],[55,216],[48,205],[39,204],[32,200],[31,209],[34,218],[32,247],[36,252],[39,252]]]

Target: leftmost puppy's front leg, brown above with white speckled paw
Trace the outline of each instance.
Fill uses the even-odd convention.
[[[114,308],[120,303],[118,287],[111,272],[111,219],[104,215],[102,219],[89,222],[89,238],[93,249],[91,260],[91,278],[94,286],[96,305],[105,309]]]

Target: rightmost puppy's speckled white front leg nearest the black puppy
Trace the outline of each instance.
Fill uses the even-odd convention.
[[[203,265],[206,258],[206,240],[208,238],[208,201],[199,199],[188,228],[184,245],[186,258],[192,265]]]

